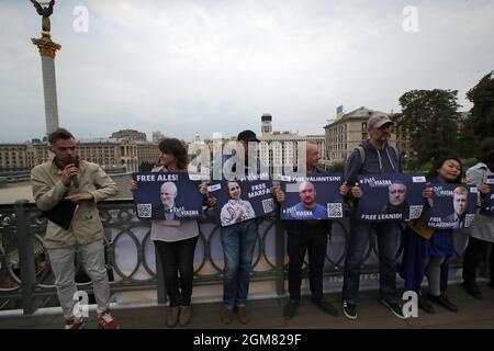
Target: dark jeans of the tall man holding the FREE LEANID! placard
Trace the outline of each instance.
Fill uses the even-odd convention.
[[[360,267],[368,248],[372,227],[378,235],[379,250],[379,293],[388,302],[396,301],[396,252],[401,236],[400,224],[371,224],[353,219],[350,242],[345,259],[343,301],[357,304],[360,283]]]

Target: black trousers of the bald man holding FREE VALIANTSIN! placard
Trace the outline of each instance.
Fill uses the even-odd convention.
[[[289,292],[291,299],[300,299],[302,265],[308,251],[308,285],[312,298],[323,299],[323,268],[326,259],[327,226],[303,224],[297,233],[288,233]]]

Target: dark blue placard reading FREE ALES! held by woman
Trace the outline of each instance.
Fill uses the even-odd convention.
[[[138,218],[180,219],[202,217],[202,195],[199,180],[182,172],[138,172],[133,192]]]

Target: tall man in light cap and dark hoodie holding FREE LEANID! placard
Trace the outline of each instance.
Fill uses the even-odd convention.
[[[374,113],[368,121],[369,139],[363,140],[355,149],[345,166],[345,183],[341,194],[350,195],[356,206],[363,194],[358,185],[358,174],[401,173],[402,163],[394,147],[389,145],[393,122],[388,115]],[[380,258],[380,295],[384,304],[398,318],[403,316],[402,306],[396,298],[396,251],[401,234],[398,223],[366,223],[352,218],[350,222],[350,238],[345,259],[343,310],[345,316],[357,319],[357,303],[360,282],[360,267],[363,254],[369,246],[371,229],[378,236]]]

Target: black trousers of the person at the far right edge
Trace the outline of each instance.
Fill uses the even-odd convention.
[[[494,245],[492,242],[470,237],[469,246],[463,257],[463,281],[465,284],[474,284],[476,270],[481,262],[487,260],[489,248],[491,247],[490,271],[491,282],[494,282]]]

